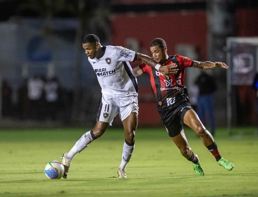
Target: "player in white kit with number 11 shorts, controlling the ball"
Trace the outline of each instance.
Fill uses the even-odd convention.
[[[97,75],[102,99],[94,128],[83,134],[72,149],[61,157],[61,163],[65,167],[63,178],[67,178],[74,155],[102,136],[117,114],[125,133],[122,161],[117,175],[119,178],[127,178],[126,166],[134,151],[134,136],[138,124],[137,80],[128,62],[140,60],[163,74],[175,74],[176,69],[160,66],[151,57],[121,46],[101,46],[99,38],[94,34],[83,38],[83,48]]]

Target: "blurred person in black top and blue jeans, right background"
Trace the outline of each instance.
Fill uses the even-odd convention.
[[[199,88],[199,96],[197,101],[197,114],[203,124],[205,120],[209,120],[209,126],[212,136],[215,135],[215,120],[214,120],[214,98],[213,93],[217,89],[216,82],[213,77],[203,70],[200,70],[200,75],[196,78],[195,84]]]

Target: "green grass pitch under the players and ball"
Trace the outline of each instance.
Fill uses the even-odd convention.
[[[255,130],[255,128],[253,128]],[[46,164],[60,157],[87,129],[24,129],[0,131],[0,196],[258,196],[257,136],[228,136],[217,129],[215,141],[235,168],[227,171],[185,129],[205,176],[196,176],[164,128],[138,128],[127,165],[127,179],[117,178],[124,143],[123,129],[109,127],[72,161],[67,179],[50,180]],[[239,129],[241,133],[245,133]]]

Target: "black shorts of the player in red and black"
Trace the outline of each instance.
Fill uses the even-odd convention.
[[[191,109],[191,104],[185,101],[173,109],[159,111],[161,120],[170,137],[175,137],[182,131],[181,121],[183,122],[185,113]]]

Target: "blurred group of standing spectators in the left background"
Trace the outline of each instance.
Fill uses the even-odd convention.
[[[2,82],[2,116],[20,120],[69,121],[73,103],[72,92],[64,90],[56,77],[46,79],[35,75],[19,86],[16,103],[12,87]]]

